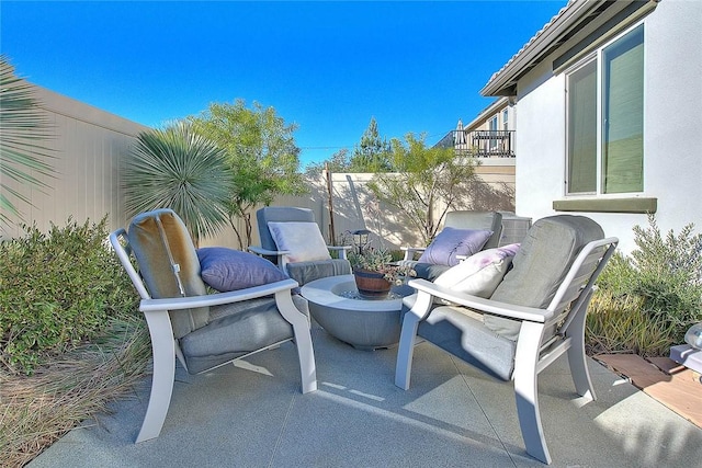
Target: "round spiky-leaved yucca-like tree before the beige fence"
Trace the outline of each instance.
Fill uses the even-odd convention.
[[[227,224],[234,183],[225,152],[185,122],[139,134],[125,158],[123,180],[128,216],[171,208],[195,244]]]

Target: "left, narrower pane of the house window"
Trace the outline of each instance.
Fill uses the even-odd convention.
[[[597,64],[568,76],[568,193],[597,190]]]

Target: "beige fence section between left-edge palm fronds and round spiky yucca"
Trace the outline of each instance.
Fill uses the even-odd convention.
[[[2,183],[27,199],[16,203],[22,220],[36,224],[43,231],[50,224],[64,226],[69,217],[78,222],[99,221],[110,215],[110,227],[126,221],[120,190],[120,162],[139,132],[148,127],[41,87],[36,96],[50,122],[53,137],[45,146],[54,158],[52,178],[33,174],[49,189],[19,185],[7,176]],[[1,175],[0,175],[1,176]],[[22,235],[20,219],[10,226],[0,224],[0,238]]]

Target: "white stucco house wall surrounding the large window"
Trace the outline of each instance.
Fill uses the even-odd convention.
[[[644,192],[620,197],[657,199],[656,220],[665,232],[694,222],[702,230],[702,2],[663,0],[644,23]],[[553,71],[556,48],[517,82],[517,214],[554,215],[565,195],[566,79]],[[615,198],[618,195],[597,195]],[[600,222],[620,248],[635,244],[632,228],[646,214],[576,212]]]

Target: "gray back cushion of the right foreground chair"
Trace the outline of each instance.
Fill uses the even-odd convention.
[[[603,239],[602,228],[584,216],[558,215],[542,218],[526,232],[505,279],[491,299],[519,306],[545,308],[556,294],[580,250]],[[485,326],[517,340],[521,322],[485,315]]]

